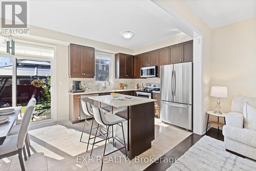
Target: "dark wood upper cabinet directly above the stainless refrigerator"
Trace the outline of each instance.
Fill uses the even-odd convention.
[[[193,40],[170,46],[170,63],[193,61]]]

